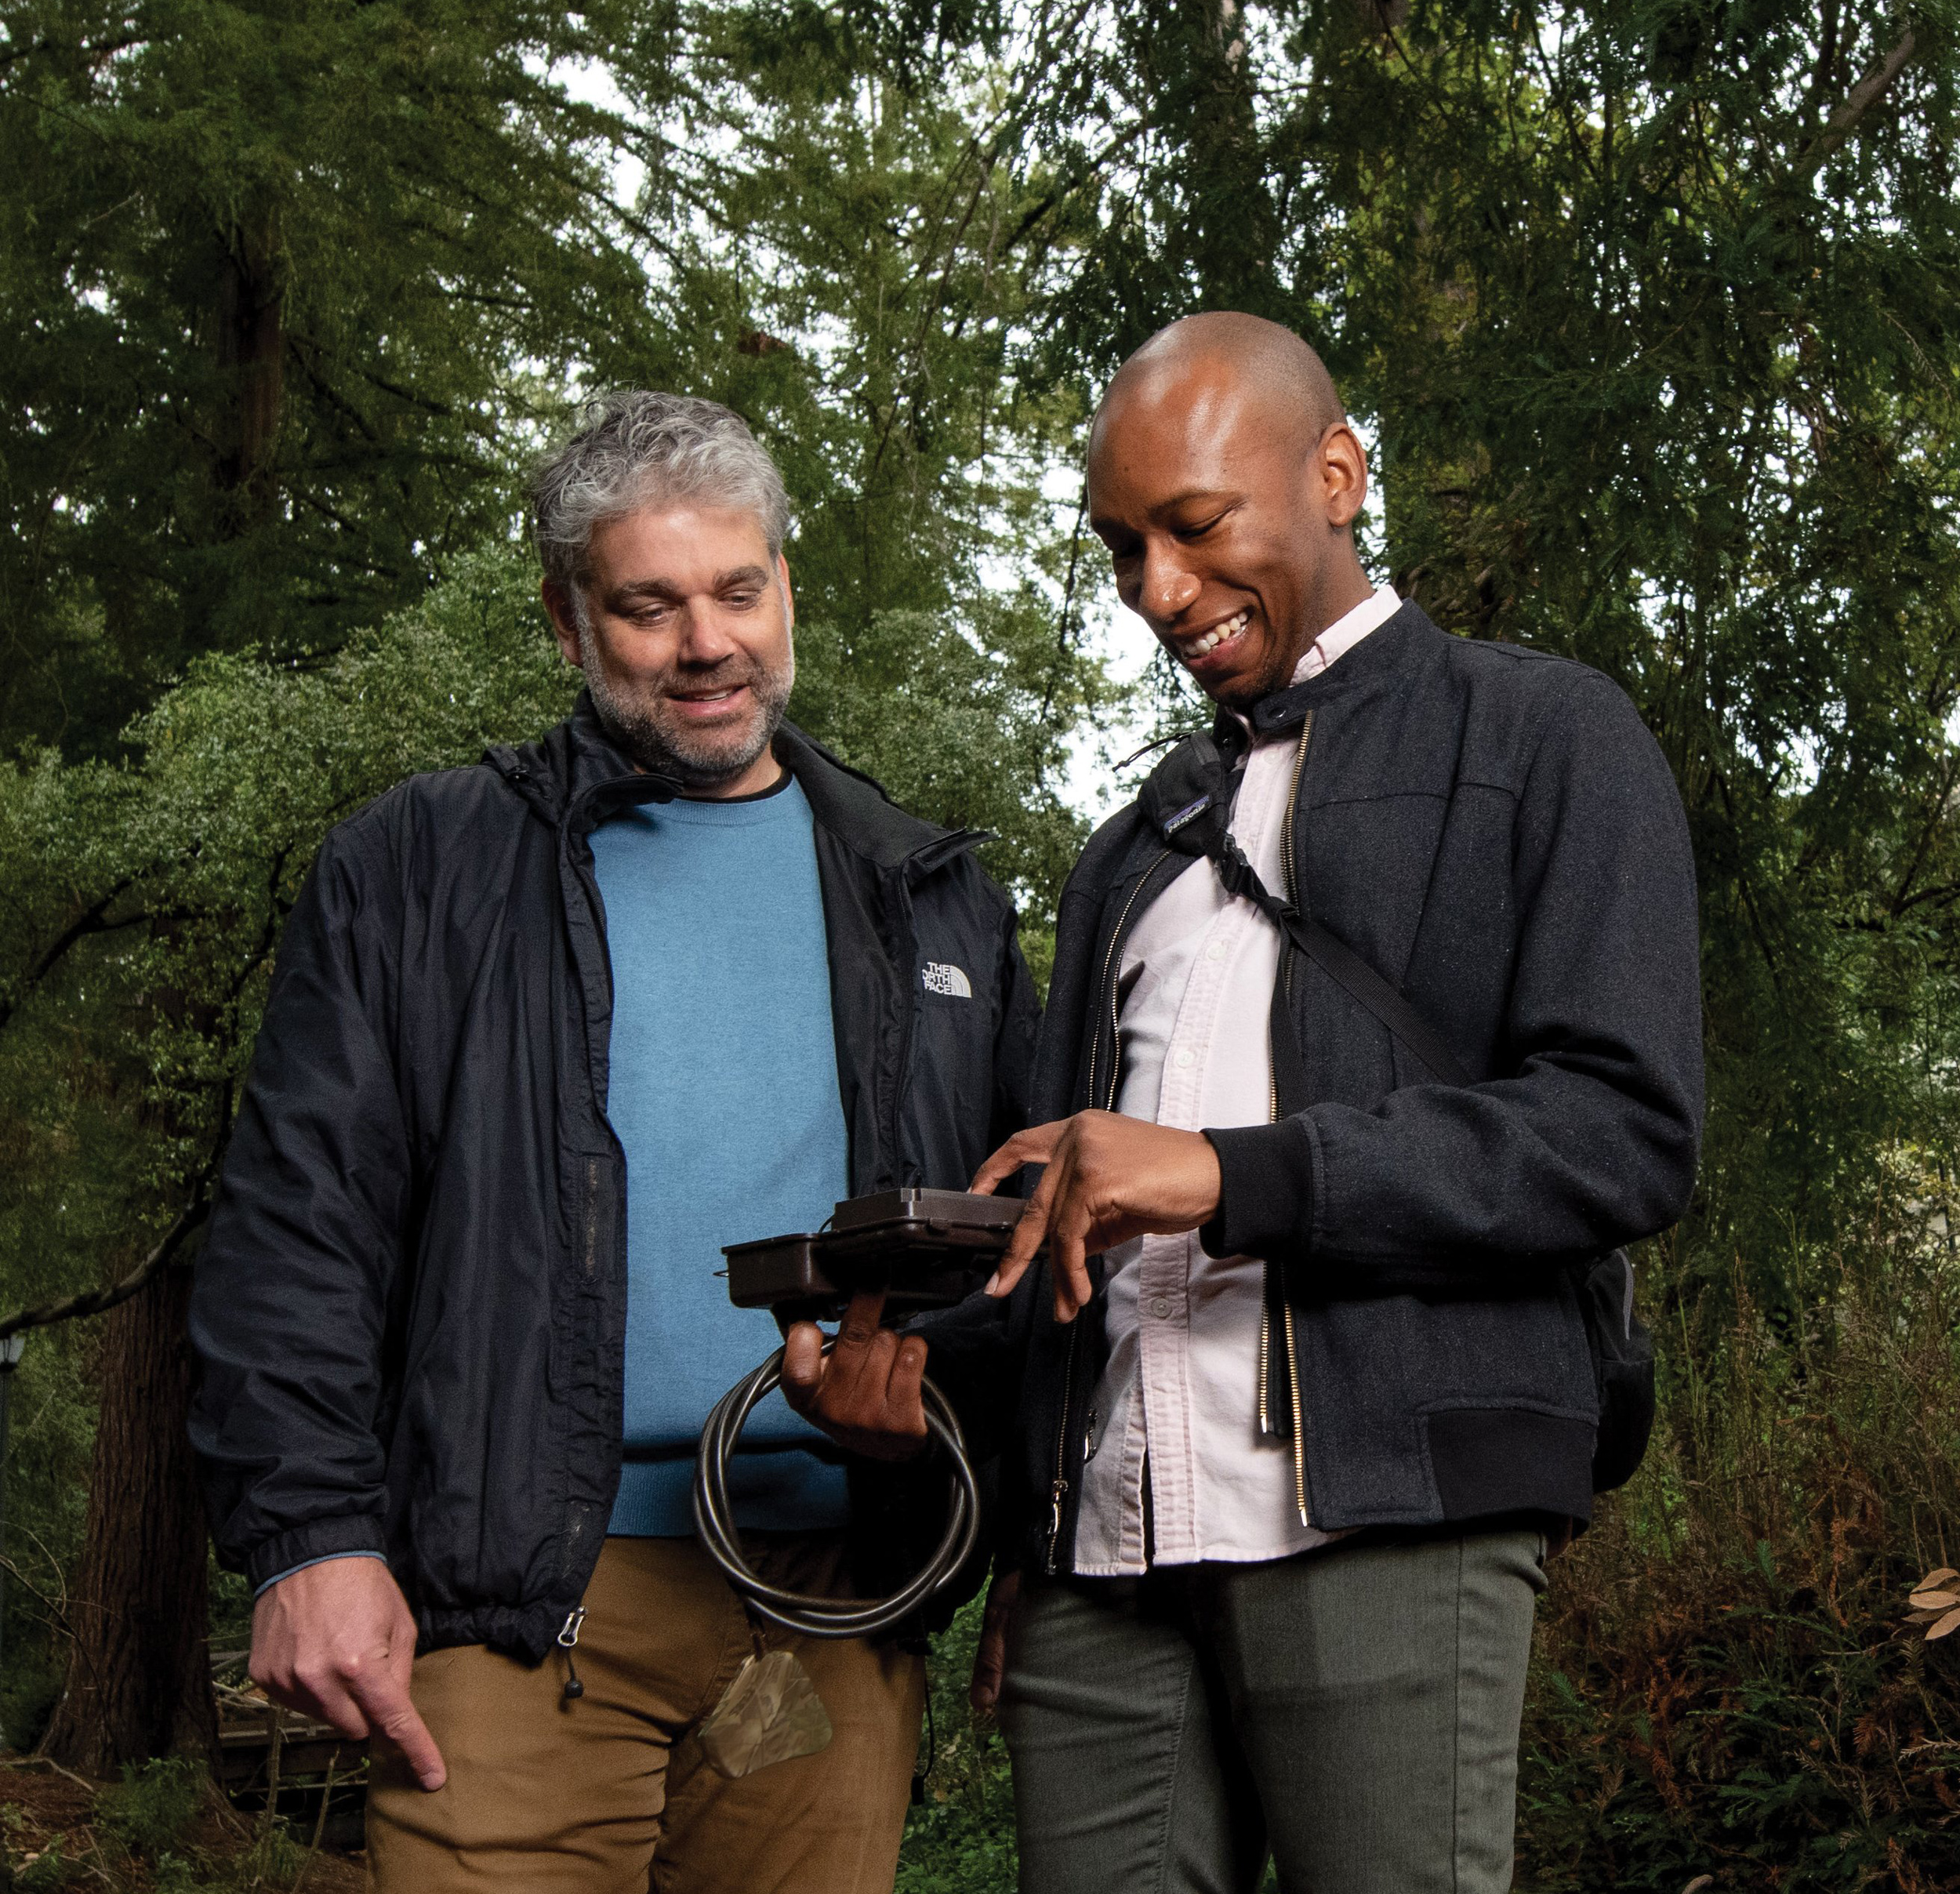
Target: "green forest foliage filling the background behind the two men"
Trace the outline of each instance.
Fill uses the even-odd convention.
[[[1127,349],[1250,308],[1376,441],[1384,574],[1619,678],[1695,833],[1709,1157],[1662,1441],[1554,1569],[1533,1884],[1954,1878],[1960,1639],[1893,1637],[1960,1563],[1944,0],[0,24],[0,737],[61,743],[0,782],[8,1306],[194,1200],[325,823],[563,706],[510,522],[578,386],[751,418],[796,714],[998,831],[1039,935],[1105,704],[1058,469]],[[41,1618],[80,1353],[22,1382]],[[907,1884],[1005,1886],[998,1747],[943,1782]]]

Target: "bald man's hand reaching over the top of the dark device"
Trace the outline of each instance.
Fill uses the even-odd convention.
[[[1047,1243],[1056,1321],[1074,1321],[1090,1300],[1092,1255],[1131,1237],[1180,1235],[1219,1208],[1219,1155],[1209,1137],[1115,1112],[1076,1112],[1017,1131],[980,1167],[972,1188],[990,1192],[1021,1165],[1047,1171],[986,1292],[1005,1296]]]

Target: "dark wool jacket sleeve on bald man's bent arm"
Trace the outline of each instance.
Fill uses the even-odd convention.
[[[1597,1253],[1682,1216],[1701,1125],[1693,857],[1660,747],[1607,678],[1582,674],[1546,718],[1511,898],[1497,1076],[1207,1131],[1211,1255],[1490,1267]]]

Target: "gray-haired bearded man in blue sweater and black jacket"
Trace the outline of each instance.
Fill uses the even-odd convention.
[[[1013,910],[784,722],[790,506],[739,416],[608,394],[531,498],[578,706],[341,823],[280,945],[192,1316],[216,1539],[253,1676],[376,1739],[380,1894],[882,1894],[915,1643],[768,1633],[821,1712],[749,1772],[700,1739],[764,1637],[694,1457],[776,1343],[717,1271],[1021,1125]],[[925,1439],[878,1300],[796,1331],[729,1474],[792,1590],[890,1590],[890,1521],[937,1531],[864,1459]]]

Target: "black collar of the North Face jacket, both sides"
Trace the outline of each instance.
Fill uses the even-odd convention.
[[[776,757],[802,786],[811,818],[882,869],[937,867],[986,839],[974,829],[943,829],[907,816],[870,776],[794,723],[776,731]],[[584,825],[586,814],[598,820],[610,804],[664,802],[678,788],[633,767],[606,733],[586,690],[578,692],[572,714],[535,743],[494,745],[484,761],[553,825],[572,816]]]

